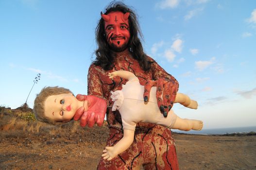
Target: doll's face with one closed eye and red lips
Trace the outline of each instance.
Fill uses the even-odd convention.
[[[70,93],[52,95],[46,99],[44,109],[51,120],[67,122],[74,117],[78,102]]]

